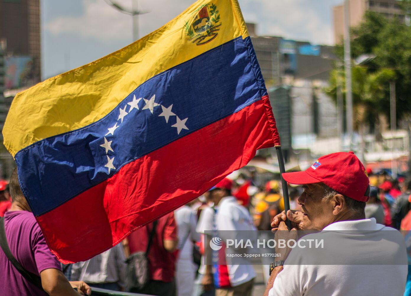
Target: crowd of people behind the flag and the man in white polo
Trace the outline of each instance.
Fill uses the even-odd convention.
[[[375,218],[376,223],[384,226],[410,231],[411,179],[392,179],[385,172],[370,169],[366,173],[370,187],[365,217]],[[301,210],[297,199],[304,191],[303,186],[289,184],[288,191],[291,209]],[[10,183],[0,181],[0,217],[5,217],[12,253],[25,269],[40,276],[43,286],[19,278],[9,260],[0,254],[0,264],[9,273],[3,277],[3,284],[12,282],[10,292],[13,289],[13,293],[20,291],[21,295],[28,291],[42,295],[38,289],[48,295],[59,295],[56,293],[60,291],[56,288],[59,285],[76,288],[77,292],[72,289],[70,293],[77,295],[90,294],[90,287],[98,287],[148,295],[250,296],[256,277],[253,266],[229,261],[206,264],[206,256],[212,258],[215,252],[210,248],[207,234],[260,230],[260,238],[268,239],[270,233],[264,231],[272,229],[275,217],[283,211],[281,182],[272,179],[255,184],[251,176],[241,174],[235,180],[223,179],[199,198],[139,228],[106,252],[88,261],[60,265],[48,250],[34,216],[28,213],[30,208],[15,171]],[[24,232],[26,237],[22,238]],[[411,249],[411,244],[407,247]],[[259,252],[273,250],[261,248]],[[270,257],[261,257],[265,282],[269,282],[272,261]],[[51,270],[55,271],[51,273]],[[44,284],[46,279],[52,284]],[[407,280],[408,290],[404,295],[411,295],[411,270]]]

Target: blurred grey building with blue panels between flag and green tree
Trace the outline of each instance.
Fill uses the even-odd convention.
[[[259,36],[255,24],[247,23],[247,28],[270,95],[286,161],[292,161],[299,143],[307,142],[307,138],[337,137],[335,103],[322,91],[328,86],[336,59],[334,47]],[[262,153],[266,156],[275,151]]]

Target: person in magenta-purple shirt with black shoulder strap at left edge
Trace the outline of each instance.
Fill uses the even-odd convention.
[[[12,207],[5,213],[5,232],[9,249],[26,270],[39,275],[43,290],[25,280],[0,249],[0,294],[2,296],[90,295],[84,282],[69,282],[60,262],[50,252],[46,240],[18,184],[17,171],[10,178]],[[79,289],[81,294],[73,288]]]

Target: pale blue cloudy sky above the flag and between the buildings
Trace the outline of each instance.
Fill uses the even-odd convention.
[[[131,9],[132,0],[111,0]],[[135,0],[139,37],[161,27],[194,0]],[[332,7],[343,0],[238,0],[257,35],[332,44]],[[97,60],[132,43],[132,17],[105,0],[42,0],[42,79]]]

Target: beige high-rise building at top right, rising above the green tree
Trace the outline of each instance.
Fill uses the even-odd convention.
[[[399,0],[349,0],[350,27],[360,24],[366,11],[378,12],[389,19],[398,17],[404,21],[404,12],[399,5],[400,2]],[[337,44],[344,36],[344,3],[333,7],[332,13],[334,41]]]

